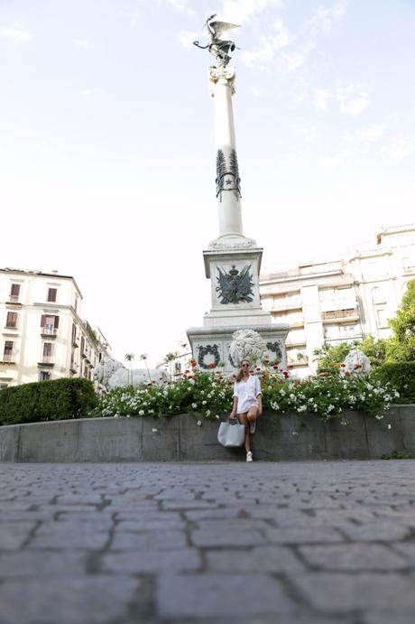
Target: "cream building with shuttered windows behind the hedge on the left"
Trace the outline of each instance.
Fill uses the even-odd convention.
[[[81,319],[82,294],[70,275],[0,269],[0,388],[87,377],[110,349]]]

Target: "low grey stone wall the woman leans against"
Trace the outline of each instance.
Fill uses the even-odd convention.
[[[415,405],[393,405],[382,421],[351,410],[344,418],[347,424],[265,413],[252,437],[254,459],[368,460],[394,450],[415,456]],[[244,460],[243,448],[218,444],[217,421],[201,422],[181,414],[8,425],[0,427],[0,461]]]

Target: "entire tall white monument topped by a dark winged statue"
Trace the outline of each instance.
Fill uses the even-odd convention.
[[[235,94],[235,67],[230,53],[235,42],[222,39],[234,23],[219,22],[216,15],[208,18],[206,44],[194,42],[215,57],[208,69],[210,94],[215,104],[215,138],[217,150],[216,194],[219,236],[203,252],[205,272],[211,282],[211,310],[203,327],[190,328],[188,338],[193,358],[201,369],[223,363],[225,372],[238,367],[232,358],[231,343],[235,331],[260,334],[270,361],[286,367],[285,339],[288,325],[272,323],[270,312],[263,311],[259,293],[259,274],[263,256],[253,238],[244,236],[241,211],[241,178],[236,154],[232,96]],[[241,334],[242,331],[242,334]]]

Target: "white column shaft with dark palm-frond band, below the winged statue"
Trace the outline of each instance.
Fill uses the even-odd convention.
[[[215,101],[215,139],[217,147],[217,207],[219,239],[229,242],[244,238],[241,213],[241,188],[235,144],[232,96],[235,93],[235,68],[209,69],[211,96]]]

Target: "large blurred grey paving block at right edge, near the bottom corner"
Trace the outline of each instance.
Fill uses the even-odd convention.
[[[313,607],[332,614],[415,610],[414,584],[399,573],[309,573],[291,582]]]

